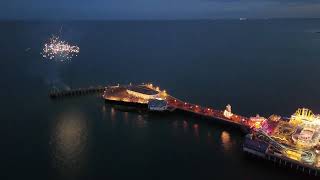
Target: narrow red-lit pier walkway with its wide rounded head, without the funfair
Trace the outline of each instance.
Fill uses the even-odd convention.
[[[113,86],[104,91],[103,98],[110,103],[145,106],[150,111],[183,111],[220,120],[243,129],[259,127],[260,121],[232,113],[231,105],[225,110],[203,107],[179,100],[152,84]]]

